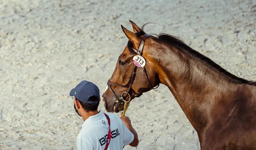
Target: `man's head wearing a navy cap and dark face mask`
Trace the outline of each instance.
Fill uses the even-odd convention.
[[[82,81],[70,91],[69,95],[74,96],[74,108],[79,116],[84,111],[97,111],[100,102],[100,90],[94,83]]]

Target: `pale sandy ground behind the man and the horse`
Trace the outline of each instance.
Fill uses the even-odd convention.
[[[82,119],[69,91],[89,80],[102,94],[128,41],[120,25],[132,30],[129,20],[158,23],[145,31],[182,37],[256,80],[256,0],[0,0],[0,150],[76,149]],[[134,99],[127,116],[138,150],[200,149],[163,85]]]

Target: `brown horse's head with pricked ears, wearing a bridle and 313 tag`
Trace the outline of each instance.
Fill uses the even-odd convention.
[[[118,57],[116,68],[102,95],[102,102],[108,112],[115,111],[117,113],[122,111],[124,105],[123,100],[130,101],[135,97],[139,97],[142,93],[151,90],[160,83],[154,65],[154,55],[151,53],[154,49],[151,45],[153,40],[142,30],[143,28],[139,28],[132,21],[130,23],[132,24],[134,33],[121,25],[129,41]],[[147,40],[145,40],[146,38]],[[142,48],[139,48],[140,45],[143,45]],[[143,53],[140,50],[143,50]],[[142,66],[140,64],[137,64],[139,67],[135,66],[135,56],[143,57],[142,62],[140,62]],[[135,57],[135,59],[138,58]],[[138,59],[138,61],[140,60]]]

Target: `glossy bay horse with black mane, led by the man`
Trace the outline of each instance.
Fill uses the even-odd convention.
[[[121,25],[129,41],[102,95],[106,110],[119,112],[123,99],[161,83],[196,130],[201,150],[256,150],[256,82],[229,73],[175,36],[147,36],[130,22],[134,33]],[[139,54],[144,69],[134,66]]]

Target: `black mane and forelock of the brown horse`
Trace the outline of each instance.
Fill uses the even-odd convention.
[[[146,23],[146,24],[148,24],[148,23]],[[136,33],[136,35],[138,37],[145,34],[143,29],[144,29],[144,26],[146,24],[143,25],[142,31]],[[165,34],[165,33],[161,33],[159,35],[157,35],[157,34],[153,34],[153,35],[156,35],[156,36],[151,35],[150,37],[152,37],[155,40],[159,40],[161,42],[165,42],[169,45],[175,46],[178,50],[183,51],[186,54],[188,54],[189,56],[198,59],[199,61],[206,64],[208,67],[217,70],[218,73],[228,77],[229,79],[231,79],[232,82],[241,83],[241,84],[256,85],[256,81],[248,81],[246,79],[242,79],[242,78],[237,77],[237,76],[231,74],[230,72],[226,71],[224,68],[220,67],[218,64],[213,62],[213,60],[211,60],[210,58],[208,58],[208,57],[204,56],[203,54],[193,50],[191,47],[186,45],[182,40],[180,40],[176,36],[172,36],[172,35]],[[133,52],[133,50],[132,50],[133,44],[132,44],[131,41],[128,41],[127,47],[131,52]]]

